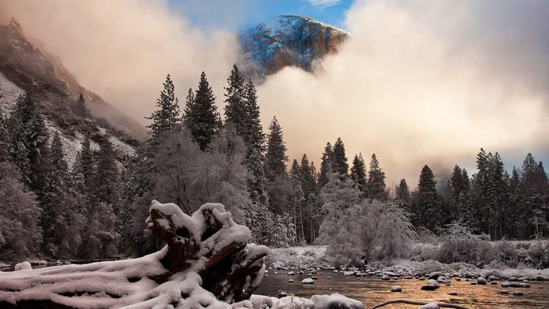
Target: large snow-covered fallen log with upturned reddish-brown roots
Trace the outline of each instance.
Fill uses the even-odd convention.
[[[268,248],[246,244],[250,230],[223,205],[187,216],[152,201],[146,222],[167,243],[161,251],[0,273],[0,308],[239,308],[261,284]]]

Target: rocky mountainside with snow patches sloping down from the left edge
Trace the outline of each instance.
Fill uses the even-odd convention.
[[[124,161],[135,155],[134,146],[147,136],[146,128],[117,111],[99,95],[80,86],[60,60],[27,40],[14,19],[0,25],[0,113],[6,117],[19,95],[27,91],[46,118],[50,133],[58,131],[69,165],[73,163],[84,135],[93,141],[107,137]],[[88,115],[77,112],[82,93]],[[91,114],[91,115],[90,115]],[[95,145],[94,145],[95,144]]]

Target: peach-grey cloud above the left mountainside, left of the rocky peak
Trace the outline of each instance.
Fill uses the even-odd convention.
[[[14,16],[82,86],[142,123],[154,111],[167,73],[184,102],[202,71],[222,90],[236,59],[232,32],[201,30],[185,17],[190,8],[167,1],[22,0],[1,1],[0,7],[3,24]]]

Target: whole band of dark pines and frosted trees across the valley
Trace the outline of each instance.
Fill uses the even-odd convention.
[[[398,217],[402,233],[439,233],[453,222],[494,240],[549,231],[548,176],[530,154],[509,174],[497,152],[481,149],[478,172],[469,176],[456,165],[444,192],[425,165],[410,192],[405,179],[386,186],[375,154],[369,165],[362,154],[349,165],[340,138],[326,144],[318,171],[307,155],[290,163],[278,119],[268,133],[261,127],[253,82],[234,66],[224,90],[221,114],[202,72],[180,111],[168,75],[148,117],[150,139],[136,157],[121,160],[106,136],[85,136],[71,167],[60,135],[49,133],[31,95],[21,95],[10,115],[0,115],[0,260],[156,251],[162,244],[144,224],[152,199],[176,203],[187,214],[222,203],[250,228],[253,242],[271,247],[334,242],[341,233],[335,229],[351,229],[357,218],[382,224],[371,216]],[[82,97],[78,104],[75,111],[91,117]],[[377,246],[366,238],[362,251]]]

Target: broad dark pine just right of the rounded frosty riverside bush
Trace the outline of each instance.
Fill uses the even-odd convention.
[[[414,226],[424,227],[430,231],[434,231],[436,227],[440,227],[441,209],[440,198],[436,192],[436,181],[434,180],[433,171],[428,165],[423,166],[419,175],[419,183],[417,185],[417,194],[413,203]]]

